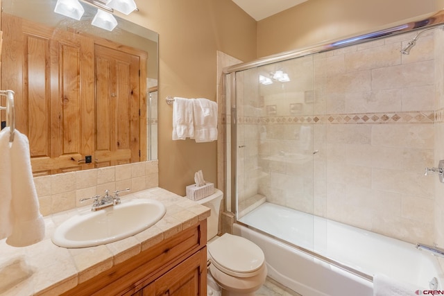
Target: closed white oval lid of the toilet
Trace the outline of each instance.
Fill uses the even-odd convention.
[[[223,234],[208,245],[212,263],[228,275],[240,276],[259,270],[264,264],[264,252],[241,236]]]

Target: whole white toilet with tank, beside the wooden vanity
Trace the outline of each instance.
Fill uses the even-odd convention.
[[[215,189],[214,194],[197,200],[211,209],[207,219],[210,273],[223,296],[255,295],[266,279],[264,252],[255,243],[232,234],[223,234],[210,241],[217,235],[222,198],[223,192]]]

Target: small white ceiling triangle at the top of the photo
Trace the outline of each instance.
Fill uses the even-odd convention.
[[[256,21],[275,15],[308,0],[232,0]]]

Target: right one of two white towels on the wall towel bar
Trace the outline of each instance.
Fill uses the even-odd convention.
[[[201,101],[205,100],[203,105],[209,106],[210,111],[201,107]],[[194,139],[196,143],[211,142],[217,140],[217,104],[207,98],[198,98],[194,100]],[[205,116],[207,114],[207,116]]]

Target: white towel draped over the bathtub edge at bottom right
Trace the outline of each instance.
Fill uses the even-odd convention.
[[[416,295],[416,290],[421,289],[412,284],[391,279],[386,275],[375,275],[373,277],[374,296],[414,296]]]

